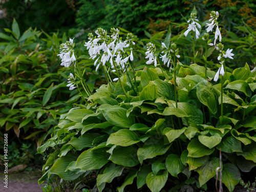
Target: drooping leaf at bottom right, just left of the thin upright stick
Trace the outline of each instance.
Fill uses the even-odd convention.
[[[199,174],[200,187],[216,175],[216,169],[220,166],[220,159],[212,157],[203,166],[196,169]]]

